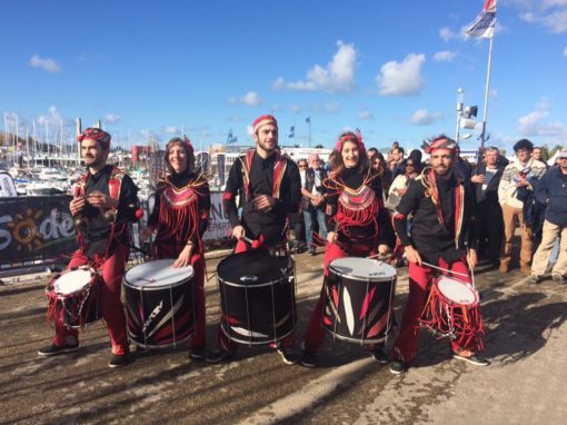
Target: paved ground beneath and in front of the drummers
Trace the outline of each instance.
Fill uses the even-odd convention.
[[[302,332],[322,255],[297,259]],[[477,276],[491,366],[451,359],[447,342],[424,334],[416,367],[401,377],[360,347],[330,338],[315,369],[284,365],[268,348],[243,348],[215,366],[190,363],[186,349],[159,350],[110,369],[100,323],[79,352],[40,358],[51,335],[44,279],[0,286],[0,424],[563,424],[567,417],[567,285],[528,286],[518,271]],[[219,314],[213,278],[206,289],[211,347]],[[407,269],[399,269],[398,318],[406,295]]]

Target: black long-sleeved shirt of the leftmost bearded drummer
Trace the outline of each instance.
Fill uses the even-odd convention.
[[[92,191],[101,191],[109,196],[109,181],[112,176],[113,167],[110,165],[101,168],[97,174],[92,175],[90,171],[87,174],[87,181],[84,184],[84,198],[89,197]],[[110,244],[110,250],[115,247],[116,243],[121,243],[129,246],[129,234],[127,230],[127,221],[137,221],[136,210],[138,208],[138,188],[128,175],[123,175],[120,186],[120,196],[118,200],[118,214],[116,221],[115,240]],[[108,238],[110,236],[110,223],[102,216],[99,208],[92,207],[87,202],[81,216],[87,218],[88,226],[82,233],[84,244],[84,255],[92,258],[94,254],[103,254],[107,249]]]

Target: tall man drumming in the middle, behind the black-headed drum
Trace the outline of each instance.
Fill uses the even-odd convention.
[[[297,165],[278,152],[278,122],[270,115],[253,121],[256,149],[248,150],[230,168],[223,195],[223,207],[238,239],[235,253],[248,249],[285,249],[287,216],[299,210],[301,179]],[[239,195],[242,217],[239,219],[236,197]],[[242,270],[245,271],[245,270]],[[217,349],[207,356],[208,363],[230,357],[236,345],[219,326]],[[297,363],[292,350],[294,335],[278,345],[284,363]]]

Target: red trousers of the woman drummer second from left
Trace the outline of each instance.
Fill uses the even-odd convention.
[[[185,248],[185,247],[183,247]],[[153,258],[177,258],[182,248],[172,248],[172,246],[153,246]],[[205,333],[207,326],[207,315],[205,310],[205,255],[203,253],[195,253],[190,259],[195,270],[193,280],[193,302],[196,313],[195,335],[189,346],[192,349],[205,348],[207,345],[207,335]]]

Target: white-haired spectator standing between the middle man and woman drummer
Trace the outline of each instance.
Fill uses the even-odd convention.
[[[311,255],[316,254],[314,244],[314,226],[318,224],[321,240],[327,239],[327,226],[325,224],[325,198],[322,180],[327,178],[327,171],[322,168],[322,161],[317,154],[309,155],[309,168],[301,169],[301,209],[304,210],[306,240]]]

